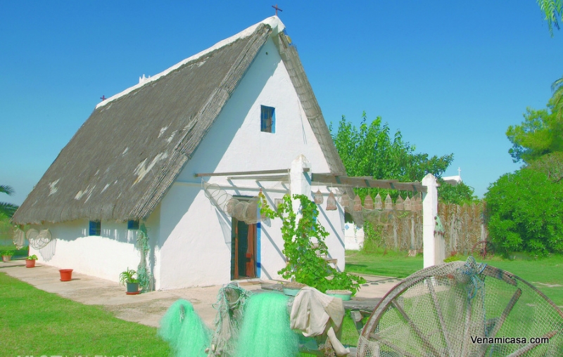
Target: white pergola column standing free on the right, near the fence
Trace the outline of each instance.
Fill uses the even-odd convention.
[[[445,259],[445,242],[442,237],[434,234],[438,216],[438,183],[436,177],[427,174],[422,178],[422,186],[426,193],[422,194],[422,244],[424,245],[424,268],[443,264]]]

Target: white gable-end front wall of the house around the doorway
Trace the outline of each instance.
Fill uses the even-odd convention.
[[[260,131],[260,105],[275,108],[274,134]],[[203,286],[230,280],[231,219],[211,205],[201,189],[201,179],[194,178],[194,174],[286,169],[300,154],[308,158],[313,171],[329,171],[289,74],[270,39],[161,202],[161,259],[156,287]],[[275,198],[289,191],[289,186],[282,183],[227,181],[222,176],[205,179],[220,184],[231,195],[255,196],[261,186],[272,206]],[[328,194],[326,188],[322,190]],[[341,207],[327,212],[325,206],[326,203],[321,206],[319,219],[330,233],[330,255],[339,259],[338,266],[343,270],[343,212]],[[261,278],[280,278],[277,271],[285,265],[281,221],[262,222],[260,226]]]

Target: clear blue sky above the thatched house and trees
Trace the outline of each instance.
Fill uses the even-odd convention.
[[[0,184],[21,204],[99,103],[264,18],[274,1],[0,1]],[[278,1],[327,123],[381,116],[480,197],[505,136],[563,74],[536,1]]]

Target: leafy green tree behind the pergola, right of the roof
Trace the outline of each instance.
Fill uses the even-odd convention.
[[[391,138],[389,126],[381,124],[381,117],[369,125],[366,121],[363,112],[358,129],[342,116],[338,131],[332,136],[348,176],[421,181],[429,173],[441,176],[453,161],[453,154],[429,157],[415,152],[415,145],[403,141],[400,131]]]

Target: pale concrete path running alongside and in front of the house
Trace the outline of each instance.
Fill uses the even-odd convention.
[[[189,287],[175,290],[159,290],[139,295],[125,294],[125,287],[118,283],[80,272],[72,272],[72,280],[61,282],[58,268],[37,264],[35,268],[25,268],[25,261],[15,260],[0,262],[0,272],[18,278],[38,289],[52,292],[87,305],[102,305],[113,311],[115,316],[123,320],[158,327],[160,318],[177,299],[186,299],[194,305],[194,309],[209,327],[213,327],[215,313],[213,304],[217,301],[217,293],[221,285],[208,287]],[[399,280],[362,275],[367,284],[356,294],[358,298],[384,297],[388,290]],[[273,280],[239,281],[246,290],[258,290],[261,283],[277,283]]]

